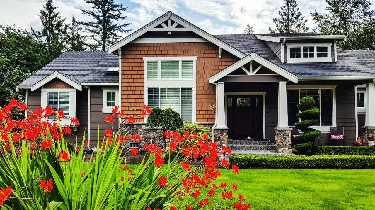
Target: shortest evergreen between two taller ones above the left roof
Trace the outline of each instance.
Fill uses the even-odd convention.
[[[67,25],[66,30],[66,49],[69,51],[85,51],[86,35],[81,35],[82,27],[72,16],[72,24]]]

